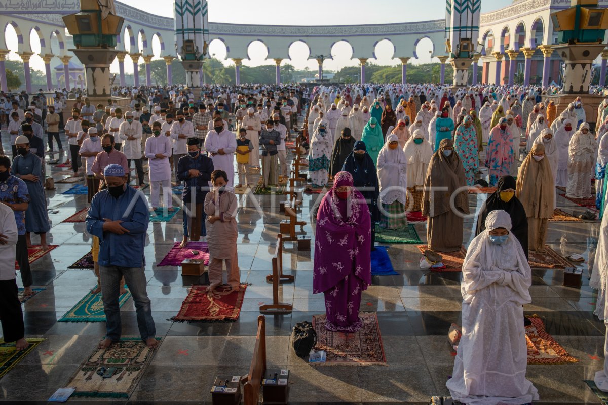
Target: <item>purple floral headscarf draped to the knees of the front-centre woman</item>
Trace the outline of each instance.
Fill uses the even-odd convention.
[[[351,187],[346,200],[336,189]],[[314,247],[313,293],[333,288],[356,270],[354,276],[363,281],[363,289],[371,284],[370,214],[361,193],[353,186],[353,176],[337,172],[334,185],[321,200],[317,212]],[[348,209],[347,209],[348,205]]]

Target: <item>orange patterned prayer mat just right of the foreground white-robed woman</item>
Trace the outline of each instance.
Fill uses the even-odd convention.
[[[526,325],[526,345],[528,346],[528,364],[568,364],[577,363],[578,359],[570,356],[558,342],[545,331],[545,325],[537,315],[527,316],[532,322]]]

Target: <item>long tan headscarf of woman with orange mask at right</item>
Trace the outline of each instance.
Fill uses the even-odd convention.
[[[517,176],[515,196],[522,202],[528,218],[549,219],[553,215],[555,180],[547,158],[534,160],[534,152],[544,152],[545,146],[532,146],[530,154],[523,160]]]

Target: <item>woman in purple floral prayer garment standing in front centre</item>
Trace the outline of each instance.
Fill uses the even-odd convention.
[[[329,330],[361,328],[361,294],[371,284],[371,217],[349,172],[337,172],[317,213],[313,294],[325,294]]]

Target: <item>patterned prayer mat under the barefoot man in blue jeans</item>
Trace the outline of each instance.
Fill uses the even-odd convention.
[[[160,342],[162,338],[156,340]],[[93,350],[64,386],[76,389],[72,396],[128,398],[153,356],[154,349],[148,349],[142,339],[120,338],[107,349]],[[103,378],[110,367],[116,367],[116,372]]]

